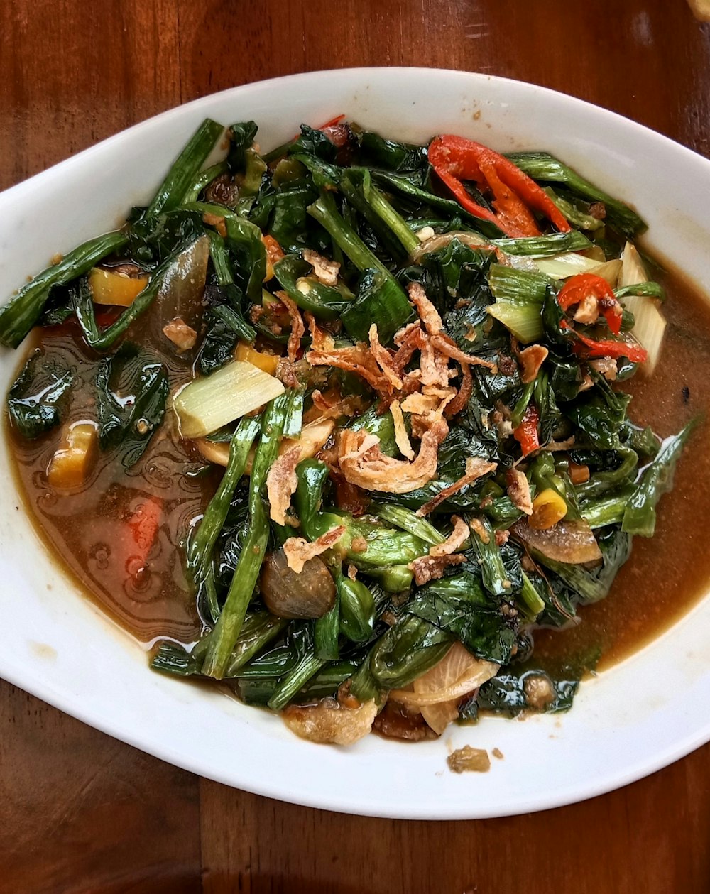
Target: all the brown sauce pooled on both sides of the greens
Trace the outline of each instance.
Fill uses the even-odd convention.
[[[622,388],[634,400],[630,417],[666,436],[690,418],[706,414],[684,452],[672,493],[659,504],[652,539],[636,537],[630,560],[621,569],[612,592],[602,602],[581,608],[580,623],[564,630],[537,630],[536,656],[559,659],[602,649],[600,667],[609,666],[645,645],[704,595],[710,579],[710,305],[678,275],[664,275],[669,295],[662,358],[654,377],[638,373]],[[46,330],[42,343],[83,368],[81,384],[72,391],[69,421],[82,418],[93,398],[97,357],[87,350],[72,325]],[[190,373],[185,360],[161,352],[170,368],[171,384]],[[88,367],[87,364],[91,364]],[[89,413],[87,413],[90,416]],[[170,411],[167,417],[169,418]],[[5,424],[6,424],[6,414]],[[89,596],[141,642],[174,637],[191,642],[199,619],[184,570],[182,538],[216,487],[219,472],[194,474],[199,463],[188,456],[164,423],[137,467],[126,476],[112,465],[110,454],[99,459],[91,485],[81,493],[58,495],[46,484],[45,470],[59,434],[50,432],[26,442],[8,428],[14,471],[20,493],[49,552]],[[190,474],[193,473],[193,474]],[[163,520],[149,555],[146,573],[136,586],[131,555],[122,548],[126,519],[141,502],[162,502]]]

